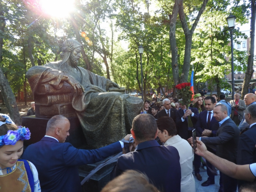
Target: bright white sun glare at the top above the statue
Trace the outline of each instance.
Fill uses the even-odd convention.
[[[68,17],[74,11],[74,0],[40,0],[42,11],[56,18]]]

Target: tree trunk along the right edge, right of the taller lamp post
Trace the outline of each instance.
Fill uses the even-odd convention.
[[[250,27],[250,48],[249,48],[249,56],[247,62],[247,69],[245,73],[244,83],[242,87],[242,97],[248,93],[249,83],[252,79],[253,75],[253,57],[254,57],[254,39],[255,39],[255,19],[256,19],[256,6],[254,5],[253,1],[251,1],[251,27]]]

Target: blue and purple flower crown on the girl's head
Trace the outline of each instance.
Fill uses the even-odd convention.
[[[0,136],[0,147],[3,145],[15,145],[18,140],[29,140],[30,134],[29,128],[18,126],[17,130],[9,130],[6,135]]]

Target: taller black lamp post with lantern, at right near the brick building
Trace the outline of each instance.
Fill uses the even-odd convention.
[[[234,82],[234,55],[233,55],[233,29],[235,28],[236,16],[230,14],[227,17],[227,24],[230,29],[230,40],[231,40],[231,84],[232,84],[232,99],[235,97],[235,82]]]

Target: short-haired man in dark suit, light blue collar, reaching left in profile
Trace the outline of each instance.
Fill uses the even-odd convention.
[[[216,105],[213,109],[214,117],[219,121],[219,129],[216,137],[197,137],[197,140],[201,140],[206,145],[217,145],[216,155],[227,159],[233,163],[236,163],[237,146],[240,131],[234,121],[227,116],[227,107],[223,104]],[[189,143],[193,143],[193,139],[188,139]],[[235,192],[237,190],[237,180],[233,179],[225,174],[222,175],[223,191],[224,192]],[[214,184],[212,182],[211,184]],[[222,191],[220,189],[219,191]]]

